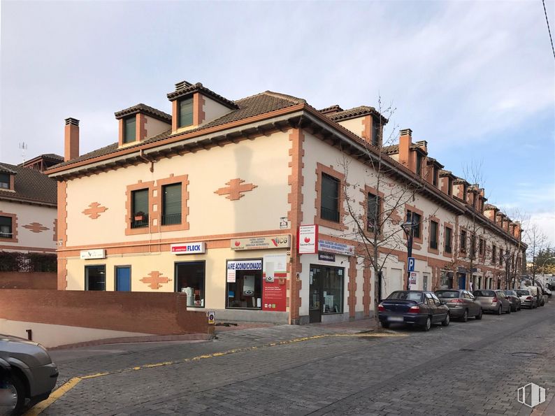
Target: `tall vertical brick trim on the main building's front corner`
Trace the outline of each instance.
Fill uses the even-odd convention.
[[[303,223],[303,156],[305,151],[303,143],[305,141],[304,133],[301,129],[293,129],[289,134],[289,141],[291,141],[291,148],[289,149],[289,156],[291,162],[291,175],[287,178],[287,183],[291,187],[291,191],[287,196],[291,208],[287,213],[287,218],[291,224],[291,260],[287,264],[287,273],[289,275],[289,296],[287,298],[287,306],[289,306],[289,324],[299,323],[299,310],[301,308],[301,288],[303,287],[303,280],[300,277],[303,272],[303,265],[301,264],[301,257],[296,248],[298,226]]]

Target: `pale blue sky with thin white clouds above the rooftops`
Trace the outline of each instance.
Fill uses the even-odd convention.
[[[555,35],[555,1],[546,0]],[[455,175],[555,245],[555,59],[542,2],[5,1],[0,161],[117,142],[114,113],[171,113],[181,80],[228,99],[265,90],[315,108],[396,108]],[[529,227],[529,225],[528,225]]]

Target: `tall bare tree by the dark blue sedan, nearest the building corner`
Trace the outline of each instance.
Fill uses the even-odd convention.
[[[382,107],[381,98],[378,99],[378,113],[387,119],[395,112],[390,105]],[[381,137],[384,120],[375,117],[379,122],[377,129]],[[364,141],[360,155],[343,155],[341,162],[345,173],[345,201],[347,203],[347,231],[345,238],[356,241],[356,256],[365,268],[370,268],[374,275],[373,306],[374,318],[378,320],[378,303],[380,301],[381,283],[384,281],[382,273],[389,257],[398,250],[406,250],[406,240],[400,225],[405,219],[405,203],[415,200],[415,194],[421,189],[421,177],[408,174],[399,179],[399,167],[384,152],[386,145],[391,145],[397,138],[397,126],[394,125],[387,139],[377,145]],[[369,138],[368,138],[369,139]],[[352,164],[358,159],[364,164],[364,174],[352,173]],[[396,177],[394,180],[393,178]],[[370,187],[371,192],[366,189]],[[360,193],[363,192],[363,202]],[[419,222],[424,222],[421,218]],[[415,224],[419,227],[420,224]]]

